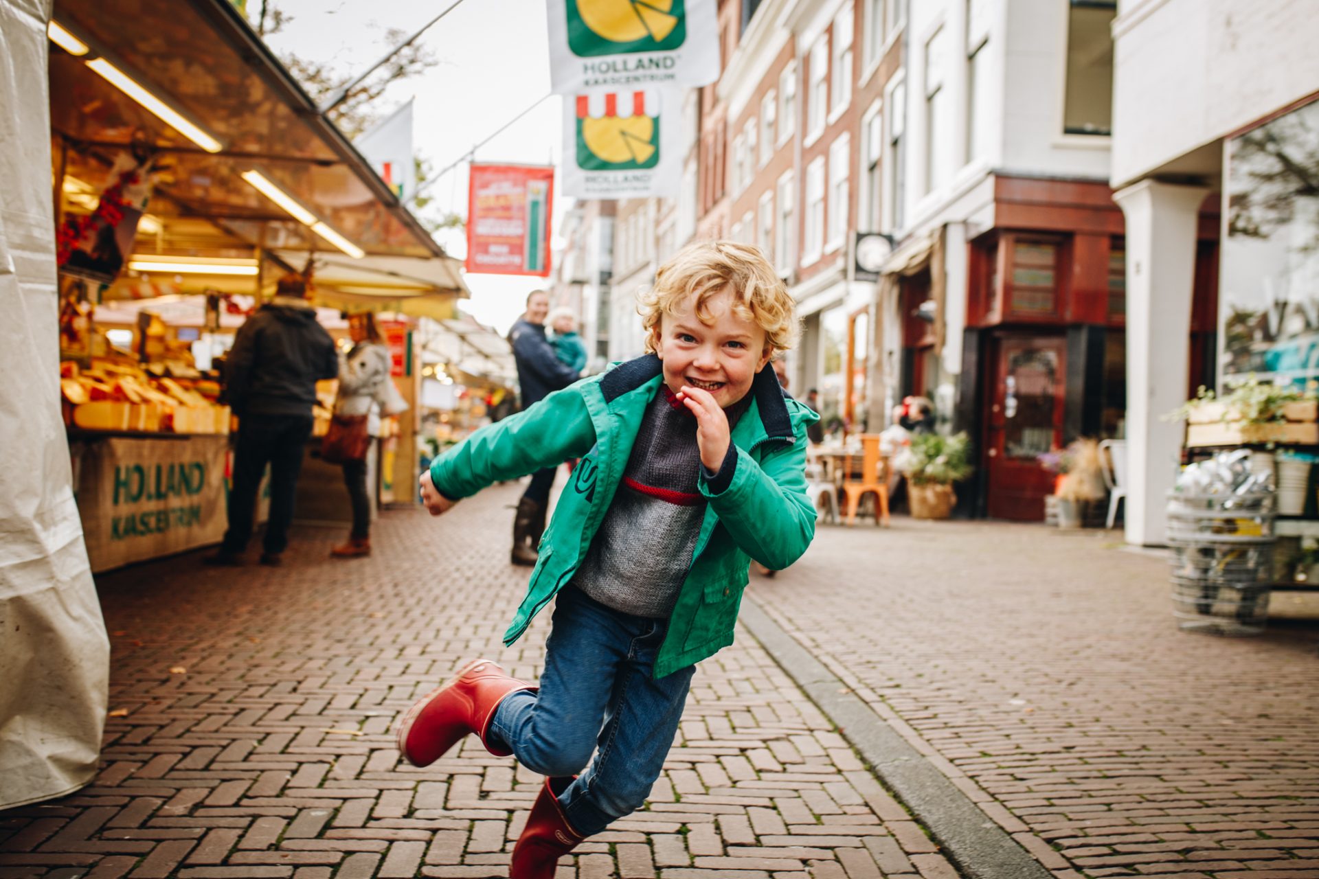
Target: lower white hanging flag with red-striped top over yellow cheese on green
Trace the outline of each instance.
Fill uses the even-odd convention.
[[[646,88],[563,100],[563,191],[583,199],[677,195],[681,92]]]

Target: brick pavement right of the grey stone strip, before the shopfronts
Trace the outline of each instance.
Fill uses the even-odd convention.
[[[1182,633],[1117,540],[822,527],[752,594],[1055,875],[1319,878],[1319,623]]]

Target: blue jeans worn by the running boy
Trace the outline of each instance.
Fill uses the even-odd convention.
[[[696,667],[650,676],[667,626],[565,588],[539,692],[513,693],[491,720],[522,766],[554,778],[579,774],[559,804],[582,836],[640,809],[673,746]]]

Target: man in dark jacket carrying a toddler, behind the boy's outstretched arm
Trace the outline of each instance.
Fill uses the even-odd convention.
[[[545,318],[550,314],[550,294],[533,290],[526,297],[526,312],[517,319],[508,333],[517,362],[517,383],[521,386],[522,409],[539,402],[550,391],[567,387],[578,380],[572,369],[554,353],[554,345],[545,337]],[[557,467],[547,467],[532,474],[532,481],[517,502],[513,517],[513,564],[536,564],[536,547],[545,531],[545,510],[554,488]]]

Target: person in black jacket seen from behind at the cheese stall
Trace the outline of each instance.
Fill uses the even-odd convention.
[[[270,465],[270,517],[261,564],[278,565],[289,544],[293,496],[311,436],[317,381],[339,374],[334,340],[317,323],[299,275],[280,278],[274,298],[239,327],[224,365],[224,391],[239,416],[230,527],[210,564],[243,564],[256,493]]]

